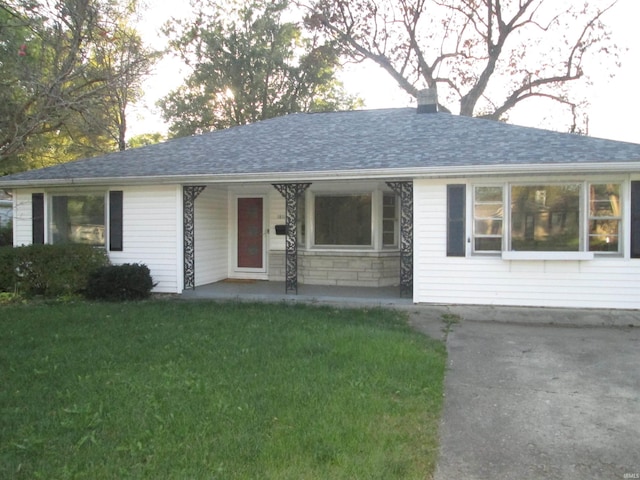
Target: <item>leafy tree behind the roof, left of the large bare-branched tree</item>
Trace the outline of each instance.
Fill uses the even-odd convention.
[[[171,136],[361,104],[336,80],[333,46],[283,20],[286,2],[195,4],[192,19],[173,19],[165,28],[170,47],[190,67],[184,85],[159,102]]]

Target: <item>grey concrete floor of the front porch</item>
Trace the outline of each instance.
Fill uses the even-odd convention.
[[[292,295],[285,292],[285,282],[233,279],[184,290],[182,297],[186,299],[301,302],[362,307],[413,304],[411,298],[399,296],[399,287],[338,287],[299,284],[298,294]]]

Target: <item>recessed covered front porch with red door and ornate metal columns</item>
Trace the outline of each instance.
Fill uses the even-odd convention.
[[[229,278],[411,297],[412,217],[409,181],[185,185],[183,288]]]

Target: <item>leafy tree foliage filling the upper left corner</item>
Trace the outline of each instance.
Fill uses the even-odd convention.
[[[0,170],[124,148],[125,110],[155,54],[135,0],[0,4]]]

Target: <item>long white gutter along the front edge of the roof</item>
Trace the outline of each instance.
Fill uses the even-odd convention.
[[[55,178],[36,180],[7,180],[0,178],[0,188],[37,188],[63,186],[114,186],[114,185],[198,185],[230,183],[286,183],[322,180],[413,180],[434,178],[505,177],[513,175],[549,174],[619,174],[640,173],[638,162],[566,163],[526,165],[469,165],[441,167],[407,167],[366,170],[330,170],[206,175],[154,175],[130,177]]]

